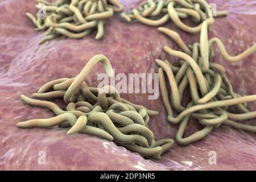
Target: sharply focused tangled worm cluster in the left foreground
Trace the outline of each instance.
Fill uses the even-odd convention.
[[[126,101],[119,96],[113,86],[104,86],[99,90],[88,87],[84,80],[98,62],[104,65],[109,76],[113,75],[109,60],[103,55],[96,55],[76,77],[50,81],[43,85],[38,93],[32,94],[34,98],[46,100],[63,97],[67,104],[65,110],[53,102],[35,100],[22,95],[22,100],[27,104],[46,107],[53,111],[56,117],[19,122],[17,126],[71,127],[68,135],[78,132],[96,135],[110,141],[114,140],[118,145],[147,158],[159,160],[163,152],[172,148],[174,140],[155,141],[154,134],[148,128],[148,121],[150,115],[156,115],[158,112]]]

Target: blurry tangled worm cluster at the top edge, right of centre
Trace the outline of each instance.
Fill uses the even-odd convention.
[[[226,15],[226,11],[216,13],[216,16]],[[121,16],[126,22],[138,20],[148,26],[162,26],[171,19],[181,30],[190,33],[200,32],[204,21],[208,26],[214,22],[210,5],[205,0],[147,0],[137,9]],[[188,17],[198,25],[191,27],[181,21]]]

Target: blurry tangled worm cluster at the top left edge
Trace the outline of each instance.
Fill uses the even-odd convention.
[[[104,24],[114,12],[123,10],[118,0],[57,0],[49,3],[36,0],[38,9],[41,3],[46,5],[46,16],[33,16],[26,13],[36,26],[36,30],[46,30],[46,36],[39,44],[64,35],[73,39],[81,39],[97,28],[96,39],[104,35]]]

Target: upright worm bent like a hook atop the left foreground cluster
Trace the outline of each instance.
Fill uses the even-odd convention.
[[[77,77],[75,78],[75,80],[72,82],[72,84],[69,86],[65,96],[64,96],[64,101],[65,103],[68,103],[71,100],[71,97],[73,96],[73,94],[75,93],[75,91],[77,90],[77,88],[79,88],[79,86],[81,85],[81,82],[83,82],[85,80],[85,78],[87,77],[87,75],[90,73],[90,71],[92,70],[92,68],[98,63],[101,62],[102,65],[105,68],[106,73],[108,74],[108,76],[112,77],[113,76],[113,70],[112,70],[112,66],[110,64],[110,61],[108,60],[108,58],[106,58],[103,55],[96,55],[93,56],[92,59],[90,59],[88,61],[88,63],[85,65],[85,67],[82,69],[82,71],[79,73],[79,75],[77,75]]]

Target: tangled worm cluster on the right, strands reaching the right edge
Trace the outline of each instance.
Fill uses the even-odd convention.
[[[232,84],[225,76],[225,68],[220,64],[212,63],[214,44],[217,45],[221,56],[230,62],[240,61],[251,55],[256,51],[256,44],[240,55],[230,56],[220,39],[208,40],[207,28],[207,22],[203,22],[200,43],[189,46],[186,46],[177,32],[167,28],[158,28],[160,32],[174,40],[182,50],[175,51],[170,47],[164,47],[164,51],[169,55],[181,59],[180,67],[175,67],[167,60],[155,60],[160,67],[160,90],[168,113],[168,121],[179,124],[176,142],[181,145],[204,138],[212,131],[213,127],[219,127],[221,124],[256,133],[256,126],[237,122],[256,118],[256,111],[251,112],[246,108],[247,102],[256,101],[256,95],[241,96],[233,92]],[[167,92],[167,82],[171,87],[170,94]],[[191,102],[187,106],[182,106],[181,101],[187,87]],[[173,110],[179,113],[177,117],[174,117]],[[198,119],[204,129],[183,138],[190,118]]]

